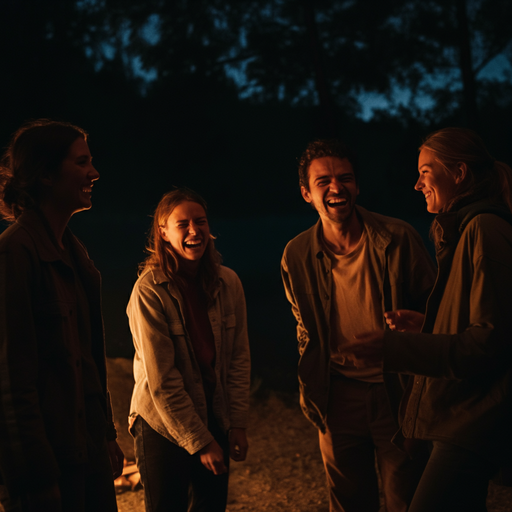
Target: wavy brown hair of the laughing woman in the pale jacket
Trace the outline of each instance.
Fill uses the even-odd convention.
[[[205,212],[207,211],[206,201],[198,193],[188,188],[177,188],[164,194],[153,215],[146,245],[146,252],[149,253],[149,256],[139,265],[139,275],[145,270],[159,268],[171,282],[178,287],[183,286],[184,281],[180,276],[178,256],[171,244],[162,238],[160,228],[166,225],[169,215],[184,201],[197,203],[203,207]],[[213,300],[213,293],[219,283],[221,261],[221,255],[215,249],[214,237],[210,234],[210,240],[198,269],[199,279],[210,302]]]

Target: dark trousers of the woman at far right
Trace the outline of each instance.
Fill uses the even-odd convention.
[[[434,441],[409,512],[485,512],[497,466],[464,448]]]

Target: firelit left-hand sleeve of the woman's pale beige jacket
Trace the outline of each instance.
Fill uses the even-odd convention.
[[[155,290],[141,283],[132,292],[127,312],[137,357],[147,379],[145,392],[152,401],[149,407],[154,407],[181,447],[191,454],[196,453],[209,444],[213,436],[196,412],[176,359],[173,338],[185,335],[183,325],[170,329],[161,298]]]

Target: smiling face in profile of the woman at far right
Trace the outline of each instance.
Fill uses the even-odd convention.
[[[439,213],[455,197],[458,183],[463,178],[459,173],[450,173],[435,159],[435,154],[423,148],[418,159],[420,177],[415,189],[423,192],[430,213]]]

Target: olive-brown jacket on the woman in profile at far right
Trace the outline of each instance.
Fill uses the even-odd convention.
[[[443,243],[423,332],[385,335],[385,371],[416,375],[403,407],[406,437],[488,457],[504,451],[512,426],[508,217],[485,201],[437,216]]]

